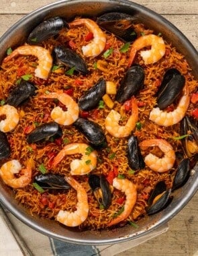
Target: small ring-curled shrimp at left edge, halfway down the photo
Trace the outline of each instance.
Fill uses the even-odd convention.
[[[19,123],[19,113],[14,106],[9,104],[5,104],[0,106],[0,116],[5,115],[5,119],[0,121],[0,130],[3,133],[7,133],[15,129],[17,123]]]

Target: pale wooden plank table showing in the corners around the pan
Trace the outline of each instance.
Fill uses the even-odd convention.
[[[1,0],[0,36],[21,19],[52,0]],[[198,49],[198,1],[197,0],[140,0],[134,1],[160,13],[172,22]],[[0,253],[1,254],[1,253]],[[168,232],[151,239],[119,256],[128,255],[198,255],[198,193],[185,208],[169,222]]]

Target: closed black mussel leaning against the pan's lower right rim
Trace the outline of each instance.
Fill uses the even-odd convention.
[[[172,191],[175,189],[179,189],[179,187],[184,185],[184,183],[189,178],[190,170],[191,168],[189,158],[184,158],[183,160],[181,160],[179,166],[177,167],[177,172],[173,180]]]

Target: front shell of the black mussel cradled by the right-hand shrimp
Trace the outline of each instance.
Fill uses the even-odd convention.
[[[185,77],[183,75],[175,75],[164,87],[164,90],[157,97],[157,106],[161,110],[170,106],[181,94],[185,86]]]

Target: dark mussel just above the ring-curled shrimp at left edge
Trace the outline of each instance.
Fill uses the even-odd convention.
[[[30,82],[22,81],[19,83],[7,97],[6,103],[11,106],[19,106],[25,100],[36,94],[36,86]]]

